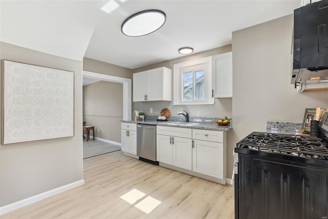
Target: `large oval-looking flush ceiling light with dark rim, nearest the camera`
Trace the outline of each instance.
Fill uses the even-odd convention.
[[[160,10],[145,10],[129,16],[122,24],[121,31],[127,36],[144,36],[161,28],[166,14]]]

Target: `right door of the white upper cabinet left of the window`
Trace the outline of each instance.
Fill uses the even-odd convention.
[[[147,71],[148,91],[147,101],[160,101],[163,99],[163,68]]]

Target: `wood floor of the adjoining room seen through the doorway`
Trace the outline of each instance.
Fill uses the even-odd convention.
[[[107,142],[101,142],[99,140],[87,140],[83,141],[83,158],[97,156],[100,154],[110,153],[113,151],[121,150],[120,146],[113,145]]]

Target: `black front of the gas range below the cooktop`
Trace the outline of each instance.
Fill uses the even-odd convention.
[[[238,155],[235,218],[327,218],[328,168]]]

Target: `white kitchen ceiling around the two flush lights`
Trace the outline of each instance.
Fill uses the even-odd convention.
[[[108,1],[0,1],[0,41],[82,60],[97,59],[138,68],[231,44],[233,31],[292,14],[300,0],[113,0],[110,14],[100,10]],[[131,14],[158,9],[167,21],[158,31],[140,37],[121,33]]]

